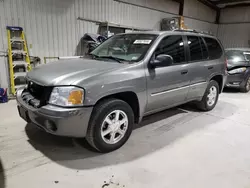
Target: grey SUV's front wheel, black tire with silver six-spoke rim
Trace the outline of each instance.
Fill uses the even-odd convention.
[[[120,125],[122,121],[125,123]],[[119,99],[103,100],[93,109],[86,140],[98,152],[111,152],[127,142],[133,126],[134,113],[128,103]]]

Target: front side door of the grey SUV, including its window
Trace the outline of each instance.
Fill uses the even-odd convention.
[[[170,35],[163,38],[151,61],[160,54],[170,55],[173,64],[146,70],[147,114],[184,103],[189,90],[189,65],[186,62],[183,37]]]

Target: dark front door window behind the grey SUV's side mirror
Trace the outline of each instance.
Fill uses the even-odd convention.
[[[155,55],[166,54],[172,56],[174,64],[185,62],[184,42],[182,36],[168,36],[160,42]]]

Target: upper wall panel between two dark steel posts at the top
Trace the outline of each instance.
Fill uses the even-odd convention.
[[[216,11],[197,0],[185,0],[184,16],[215,22]]]

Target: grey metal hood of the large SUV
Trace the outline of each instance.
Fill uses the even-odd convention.
[[[27,79],[44,86],[74,85],[123,66],[117,62],[92,59],[59,60],[34,68],[27,74]]]

